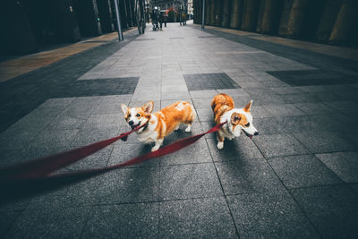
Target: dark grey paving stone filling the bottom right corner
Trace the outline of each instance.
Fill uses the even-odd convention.
[[[349,186],[303,188],[291,193],[322,237],[357,237],[358,195]]]

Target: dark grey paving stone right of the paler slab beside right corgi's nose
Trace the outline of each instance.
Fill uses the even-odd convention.
[[[312,153],[354,150],[355,147],[337,132],[311,131],[296,132],[294,137]]]

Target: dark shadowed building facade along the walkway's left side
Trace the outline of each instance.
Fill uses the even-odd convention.
[[[134,1],[119,0],[123,29],[136,24]],[[0,5],[1,55],[37,52],[117,29],[115,0],[4,0]]]

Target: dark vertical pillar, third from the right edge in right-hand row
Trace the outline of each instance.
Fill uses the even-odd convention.
[[[303,26],[303,17],[307,0],[286,0],[282,12],[278,34],[287,37],[298,37]]]

